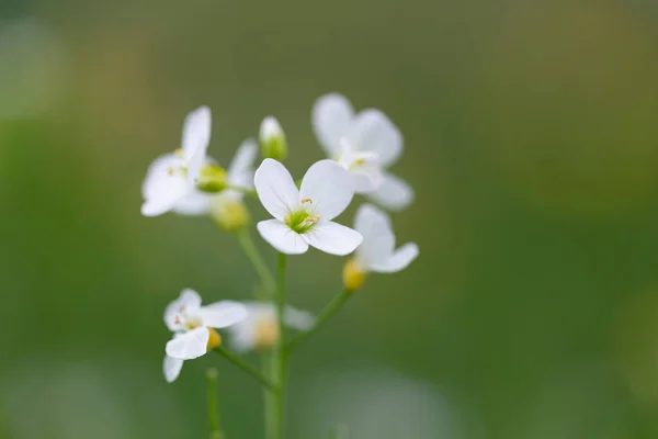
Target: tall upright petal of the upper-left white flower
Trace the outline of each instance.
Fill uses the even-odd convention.
[[[189,181],[198,178],[211,142],[211,109],[205,105],[188,114],[183,123],[182,148],[188,161]]]

